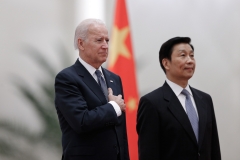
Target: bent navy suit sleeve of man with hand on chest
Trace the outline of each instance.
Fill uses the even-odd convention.
[[[89,110],[74,78],[66,73],[60,72],[56,76],[55,94],[56,107],[77,133],[91,132],[117,123],[116,112],[109,103]]]

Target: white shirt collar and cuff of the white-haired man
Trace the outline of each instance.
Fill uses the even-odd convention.
[[[93,76],[95,81],[98,83],[97,75],[95,74],[96,68],[94,68],[93,66],[85,62],[80,56],[78,59],[79,59],[79,62],[88,70],[88,72]],[[102,73],[102,67],[99,67],[98,70]],[[103,73],[102,73],[102,77],[105,80]],[[106,83],[106,80],[105,80],[105,83]],[[115,101],[109,101],[108,103],[110,103],[113,106],[118,117],[122,115],[122,111],[119,105]]]

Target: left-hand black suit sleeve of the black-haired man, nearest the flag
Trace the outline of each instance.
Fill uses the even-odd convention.
[[[159,160],[158,112],[146,98],[141,98],[137,112],[139,160]]]

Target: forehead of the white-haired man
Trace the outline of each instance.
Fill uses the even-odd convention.
[[[108,30],[105,25],[92,24],[89,26],[88,35],[89,36],[108,37]]]

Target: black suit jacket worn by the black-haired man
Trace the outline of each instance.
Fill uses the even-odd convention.
[[[190,87],[199,116],[199,142],[177,96],[165,84],[140,99],[137,133],[140,160],[220,160],[210,95]]]

